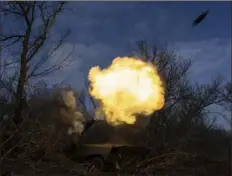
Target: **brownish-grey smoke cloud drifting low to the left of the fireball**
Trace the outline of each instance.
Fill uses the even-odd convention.
[[[78,108],[77,93],[70,88],[59,88],[43,96],[35,96],[28,101],[34,115],[41,114],[41,122],[64,128],[69,135],[81,135],[84,130],[85,117]]]

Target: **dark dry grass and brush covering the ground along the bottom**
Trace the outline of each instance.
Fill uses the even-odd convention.
[[[12,171],[19,175],[202,175],[226,176],[226,161],[207,161],[198,155],[177,150],[155,151],[143,160],[138,156],[122,156],[114,172],[99,173],[86,164],[75,163],[62,153],[67,141],[65,129],[55,131],[40,123],[40,116],[29,116],[16,128],[10,120],[1,126],[2,173]],[[159,153],[158,153],[159,152]]]

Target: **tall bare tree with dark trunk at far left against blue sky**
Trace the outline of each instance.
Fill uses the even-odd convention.
[[[15,26],[17,30],[6,29],[0,36],[0,42],[3,48],[11,48],[13,51],[17,48],[14,62],[19,65],[19,76],[15,91],[15,123],[21,121],[22,97],[25,92],[25,85],[31,78],[46,76],[57,69],[60,69],[66,58],[46,67],[48,60],[53,56],[55,51],[65,43],[69,31],[66,31],[53,47],[42,53],[44,46],[48,41],[52,41],[55,36],[50,32],[53,28],[56,18],[64,11],[66,2],[4,2],[2,3],[1,12],[5,15],[4,21],[16,19]],[[8,17],[8,18],[7,18]],[[38,22],[39,21],[39,22]],[[38,23],[40,23],[39,26]],[[8,23],[9,24],[9,23]],[[6,25],[7,26],[7,25]],[[16,47],[15,47],[16,46]],[[42,54],[41,54],[42,53]],[[39,57],[38,57],[39,56]]]

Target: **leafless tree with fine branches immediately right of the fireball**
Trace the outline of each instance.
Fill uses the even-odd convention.
[[[222,80],[218,77],[205,85],[190,82],[190,59],[179,58],[159,44],[150,50],[145,41],[139,41],[138,47],[141,57],[157,67],[165,86],[165,106],[151,115],[148,128],[150,142],[163,145],[171,141],[178,145],[186,143],[197,126],[207,125],[207,117],[211,115],[209,107],[220,101],[218,92]],[[154,135],[159,135],[161,141],[154,140]]]

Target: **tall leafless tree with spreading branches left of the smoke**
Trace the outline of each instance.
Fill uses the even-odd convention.
[[[62,12],[63,6],[66,2],[7,2],[4,4],[3,12],[7,15],[16,15],[17,18],[22,19],[25,22],[25,30],[22,31],[22,34],[12,33],[5,36],[1,36],[0,41],[8,42],[5,43],[5,47],[11,46],[13,44],[19,44],[18,48],[21,48],[20,52],[20,71],[19,79],[16,91],[16,108],[15,114],[17,119],[20,119],[20,114],[22,111],[22,96],[24,94],[24,86],[28,81],[28,78],[32,75],[34,77],[45,76],[57,69],[61,68],[61,65],[64,64],[63,61],[51,66],[50,68],[44,69],[43,72],[38,72],[39,68],[47,61],[50,57],[42,57],[41,60],[37,62],[34,68],[30,68],[30,61],[35,58],[35,56],[42,49],[44,43],[49,38],[49,30],[52,28],[54,21],[59,13]],[[39,13],[38,13],[39,12]],[[43,21],[43,28],[40,31],[38,36],[32,36],[33,34],[33,24],[34,20],[37,17],[41,17]],[[65,37],[64,37],[65,38]],[[21,41],[22,40],[22,41]],[[56,49],[61,46],[61,43],[64,41],[61,40],[58,42]],[[21,47],[20,47],[21,46]],[[54,50],[56,50],[54,49]],[[67,56],[68,57],[68,56]],[[35,61],[33,61],[35,62]],[[28,73],[28,70],[31,69],[31,73]]]

